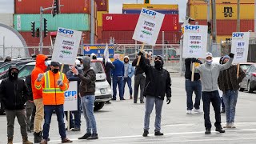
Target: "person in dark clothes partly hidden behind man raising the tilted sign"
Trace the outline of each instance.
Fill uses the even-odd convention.
[[[137,66],[137,62],[138,62],[138,58],[135,58],[132,66],[136,66],[135,69],[135,77],[134,77],[134,103],[137,103],[138,100],[138,86],[140,87],[140,102],[144,103],[144,96],[143,96],[143,92],[144,92],[144,87],[145,87],[145,73],[142,70],[142,68],[140,66]],[[148,58],[145,58],[145,63],[146,65],[150,65],[150,60]]]

